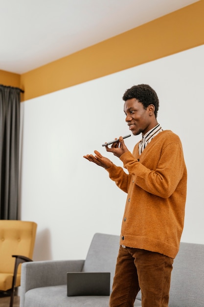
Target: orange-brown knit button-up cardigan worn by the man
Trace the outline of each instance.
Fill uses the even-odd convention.
[[[187,172],[180,138],[160,132],[138,153],[120,157],[127,174],[113,164],[107,171],[128,193],[120,244],[175,258],[184,223]]]

